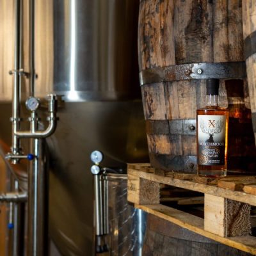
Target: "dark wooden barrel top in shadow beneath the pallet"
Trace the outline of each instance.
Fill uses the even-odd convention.
[[[252,254],[217,243],[166,220],[148,214],[142,255],[249,256]]]

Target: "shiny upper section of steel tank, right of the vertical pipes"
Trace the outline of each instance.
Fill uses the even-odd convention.
[[[78,102],[140,95],[138,2],[35,0],[35,96],[54,92]]]

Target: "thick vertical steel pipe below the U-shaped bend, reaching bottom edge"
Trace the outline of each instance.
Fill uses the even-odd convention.
[[[31,139],[35,159],[29,166],[28,256],[48,255],[48,196],[44,140]]]

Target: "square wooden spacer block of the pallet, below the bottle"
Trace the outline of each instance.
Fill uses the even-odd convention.
[[[205,194],[204,229],[222,237],[250,234],[250,205]]]

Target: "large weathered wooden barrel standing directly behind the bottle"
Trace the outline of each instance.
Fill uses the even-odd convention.
[[[150,163],[196,172],[196,109],[220,79],[230,109],[228,169],[255,170],[241,1],[141,0],[138,49]]]

